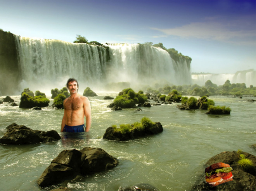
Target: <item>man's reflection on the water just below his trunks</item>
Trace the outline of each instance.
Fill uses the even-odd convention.
[[[84,146],[90,142],[90,133],[89,132],[81,132],[81,133],[69,133],[62,132],[61,141],[63,147],[66,148],[76,148],[80,146]]]

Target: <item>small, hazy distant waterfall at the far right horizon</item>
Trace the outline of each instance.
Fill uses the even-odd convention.
[[[204,85],[207,80],[211,80],[213,84],[223,85],[227,80],[231,84],[245,83],[246,87],[250,85],[256,86],[256,71],[245,70],[235,74],[192,74],[192,82],[198,85]]]

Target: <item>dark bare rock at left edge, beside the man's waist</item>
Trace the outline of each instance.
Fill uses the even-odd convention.
[[[59,136],[57,131],[32,130],[24,125],[12,123],[11,125],[7,126],[5,134],[2,138],[0,138],[0,143],[23,145],[52,142],[60,139],[61,136]]]

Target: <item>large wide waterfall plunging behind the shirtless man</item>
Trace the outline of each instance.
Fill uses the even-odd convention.
[[[69,77],[84,86],[95,87],[112,82],[130,82],[131,85],[191,82],[187,63],[178,63],[174,68],[177,63],[170,55],[153,46],[106,44],[108,57],[102,46],[22,37],[19,42],[21,88],[62,88]]]

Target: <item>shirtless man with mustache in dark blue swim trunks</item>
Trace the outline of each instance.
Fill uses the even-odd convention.
[[[91,127],[91,106],[88,97],[78,94],[78,82],[74,78],[67,80],[70,96],[64,100],[64,116],[61,132],[88,132]],[[86,117],[86,128],[84,117]]]

